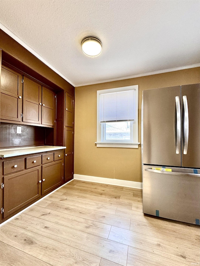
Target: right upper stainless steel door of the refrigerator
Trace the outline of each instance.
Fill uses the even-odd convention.
[[[200,84],[182,85],[181,91],[182,166],[200,168]]]

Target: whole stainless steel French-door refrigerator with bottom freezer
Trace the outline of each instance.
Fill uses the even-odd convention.
[[[143,91],[142,162],[143,213],[199,225],[200,84]]]

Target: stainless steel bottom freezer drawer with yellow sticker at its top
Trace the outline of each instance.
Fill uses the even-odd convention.
[[[143,165],[143,213],[199,225],[200,170],[152,167]]]

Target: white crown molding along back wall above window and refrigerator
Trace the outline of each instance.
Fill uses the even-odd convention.
[[[194,67],[199,67],[199,66],[200,66],[200,64],[185,65],[185,66],[181,66],[181,67],[169,68],[169,69],[165,69],[165,70],[148,72],[148,73],[143,73],[143,74],[138,74],[138,75],[125,76],[125,77],[119,77],[119,78],[108,79],[108,80],[98,80],[98,81],[91,82],[91,83],[84,83],[84,84],[75,85],[75,87],[81,87],[81,86],[87,86],[87,85],[94,85],[94,84],[106,83],[106,82],[118,81],[118,80],[128,80],[128,79],[133,79],[133,78],[138,78],[138,77],[144,77],[144,76],[162,74],[162,73],[166,73],[166,72],[178,71],[178,70],[183,70],[183,69],[188,69],[188,68],[194,68]]]

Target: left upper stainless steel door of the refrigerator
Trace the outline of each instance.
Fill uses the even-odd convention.
[[[143,91],[143,163],[181,166],[180,86]]]

